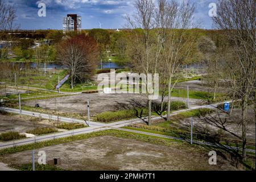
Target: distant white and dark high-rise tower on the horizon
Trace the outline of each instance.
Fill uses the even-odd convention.
[[[81,31],[82,30],[82,17],[77,14],[68,14],[63,18],[64,31]]]

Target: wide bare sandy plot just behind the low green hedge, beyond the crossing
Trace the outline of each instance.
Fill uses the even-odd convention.
[[[166,98],[167,99],[167,98]],[[131,107],[146,106],[146,97],[140,94],[79,94],[75,96],[67,96],[56,98],[56,107],[58,111],[65,113],[86,113],[87,112],[87,101],[90,101],[90,114],[95,115],[104,111],[115,111],[120,109],[127,109]],[[184,101],[186,98],[173,97],[172,100]],[[160,101],[160,100],[158,100]],[[47,109],[55,109],[55,99],[52,98],[47,100],[38,100],[38,104],[41,107]],[[191,106],[200,104],[201,100],[191,100]],[[27,106],[35,106],[35,101],[25,101],[23,103]]]

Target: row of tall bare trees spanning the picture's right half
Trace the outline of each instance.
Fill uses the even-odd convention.
[[[130,59],[139,73],[159,73],[162,98],[165,94],[168,97],[167,120],[180,66],[199,57],[208,65],[207,77],[214,89],[213,99],[216,99],[218,85],[222,84],[233,100],[241,101],[243,159],[246,158],[247,109],[254,105],[255,110],[255,3],[254,0],[219,0],[218,15],[213,18],[219,30],[208,31],[203,36],[197,29],[191,29],[195,5],[189,1],[179,4],[175,0],[156,3],[136,0],[136,13],[127,17],[132,28],[127,34]],[[148,111],[150,125],[150,99]]]

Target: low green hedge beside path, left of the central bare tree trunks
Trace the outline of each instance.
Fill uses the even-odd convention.
[[[128,109],[128,110],[119,110],[119,111],[108,111],[105,113],[97,114],[94,117],[95,121],[98,122],[112,122],[121,119],[129,119],[134,117],[143,117],[148,113],[147,109]]]

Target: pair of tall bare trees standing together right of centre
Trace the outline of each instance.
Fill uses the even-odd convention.
[[[135,71],[159,73],[163,95],[167,91],[169,120],[173,81],[178,80],[180,66],[195,56],[197,34],[189,30],[195,5],[189,1],[179,5],[175,0],[158,0],[156,4],[152,0],[137,0],[135,9],[136,14],[127,17],[133,28],[129,39],[130,57]],[[148,98],[148,125],[151,125],[151,104]]]

